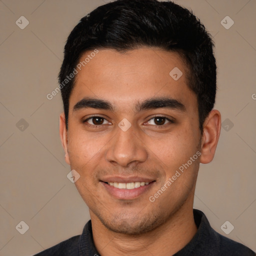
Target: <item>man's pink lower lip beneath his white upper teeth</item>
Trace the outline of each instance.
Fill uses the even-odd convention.
[[[110,195],[117,199],[134,199],[141,195],[142,193],[145,193],[148,189],[150,189],[155,181],[150,182],[147,185],[140,186],[133,189],[127,189],[127,188],[117,188],[114,186],[110,186],[107,183],[100,181],[102,185],[105,187],[105,189],[108,191]]]

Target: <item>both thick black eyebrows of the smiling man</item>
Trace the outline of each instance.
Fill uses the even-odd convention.
[[[77,111],[84,108],[96,108],[96,109],[104,109],[114,111],[113,105],[104,99],[99,98],[90,98],[84,97],[79,100],[73,107],[73,111]],[[157,109],[157,108],[167,108],[174,110],[181,110],[183,112],[186,111],[184,104],[179,102],[178,100],[170,97],[154,97],[145,99],[142,102],[137,102],[135,105],[135,110],[137,112],[146,110],[146,109]]]

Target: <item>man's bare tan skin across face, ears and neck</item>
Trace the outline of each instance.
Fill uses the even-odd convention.
[[[183,73],[176,81],[169,75],[174,67]],[[212,110],[201,134],[196,95],[186,85],[186,70],[177,53],[142,47],[126,53],[99,49],[76,75],[68,130],[61,113],[59,132],[65,160],[80,174],[75,185],[89,207],[93,240],[103,256],[171,255],[196,233],[192,208],[199,162],[213,159],[221,121],[219,111]],[[137,102],[162,96],[178,100],[185,111],[136,111]],[[107,100],[114,109],[73,110],[84,97]],[[105,119],[98,126],[92,126],[95,119],[82,122],[91,115]],[[174,122],[161,119],[160,125],[155,115]],[[118,126],[123,118],[131,124],[126,131]],[[197,151],[200,157],[154,202],[149,201]],[[100,182],[106,176],[150,177],[155,182],[136,198],[117,199]]]

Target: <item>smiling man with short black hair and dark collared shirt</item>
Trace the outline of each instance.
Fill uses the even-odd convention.
[[[117,0],[74,27],[59,131],[91,220],[36,255],[255,255],[193,209],[220,134],[212,47],[173,2]]]

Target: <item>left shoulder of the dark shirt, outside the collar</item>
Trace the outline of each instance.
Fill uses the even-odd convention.
[[[72,256],[72,255],[78,255],[78,240],[80,235],[72,236],[48,249],[45,249],[34,256]]]

